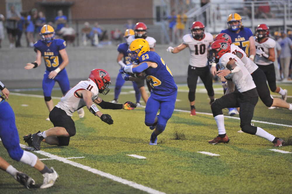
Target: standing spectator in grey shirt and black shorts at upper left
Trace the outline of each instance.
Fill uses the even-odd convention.
[[[8,39],[10,42],[10,48],[14,47],[15,37],[17,34],[17,21],[20,20],[20,13],[15,10],[15,6],[12,5],[7,12],[6,28]]]

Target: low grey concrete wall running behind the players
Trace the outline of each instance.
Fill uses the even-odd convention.
[[[187,66],[189,64],[189,50],[186,48],[177,54],[166,52],[168,45],[157,45],[157,53],[164,59],[171,69],[173,76],[180,83],[186,83]],[[96,47],[67,47],[69,64],[66,67],[70,83],[74,85],[80,80],[86,80],[89,72],[95,68],[102,68],[109,72],[112,83],[119,71],[117,64],[117,47],[103,46]],[[0,80],[11,83],[12,88],[41,87],[41,80],[45,71],[44,60],[40,67],[25,70],[25,64],[33,62],[36,54],[32,48],[2,47],[0,50]],[[178,82],[177,81],[177,82]],[[12,84],[14,83],[14,84]],[[58,86],[58,84],[56,84]]]

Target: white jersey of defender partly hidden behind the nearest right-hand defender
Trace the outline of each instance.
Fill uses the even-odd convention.
[[[231,44],[230,49],[230,53],[236,55],[244,63],[245,68],[250,74],[258,69],[258,66],[247,57],[246,53],[239,46]]]

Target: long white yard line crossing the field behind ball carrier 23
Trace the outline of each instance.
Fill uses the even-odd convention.
[[[44,98],[44,96],[42,96],[42,95],[21,94],[21,93],[15,93],[15,92],[10,92],[10,95]],[[52,97],[52,99],[61,99],[61,98],[60,98],[60,97]],[[141,107],[145,108],[145,106],[141,106]],[[190,112],[190,111],[180,110],[180,109],[174,109],[174,111],[185,112],[185,113],[189,113],[189,112]],[[196,113],[213,116],[212,113],[202,113],[202,112],[196,112]],[[232,116],[224,116],[224,117],[225,117],[225,118],[233,118],[233,119],[240,120],[240,118],[238,118],[238,117],[232,117]],[[255,122],[255,123],[265,123],[265,124],[269,124],[269,125],[278,125],[278,126],[284,126],[284,127],[292,127],[292,125],[284,125],[284,124],[279,124],[279,123],[270,123],[270,122],[261,121],[261,120],[251,120],[251,122]]]

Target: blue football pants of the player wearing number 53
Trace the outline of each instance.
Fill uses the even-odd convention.
[[[55,82],[59,83],[63,94],[70,90],[70,83],[66,69],[60,71],[54,79],[48,78],[49,73],[50,73],[49,71],[45,71],[44,73],[43,91],[45,97],[51,96]]]

